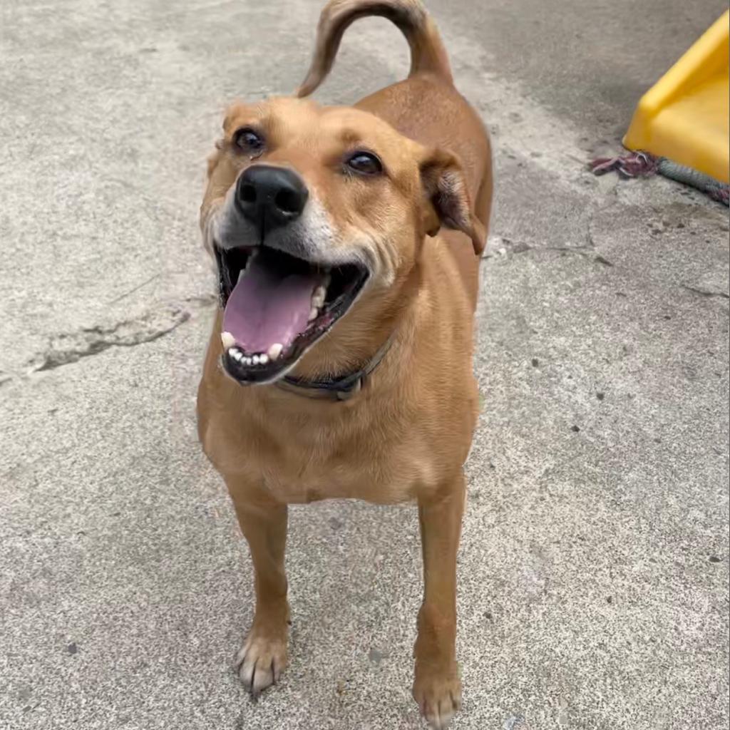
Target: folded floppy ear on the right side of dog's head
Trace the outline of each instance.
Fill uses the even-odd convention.
[[[456,156],[431,150],[420,164],[420,179],[426,194],[426,233],[435,236],[441,226],[462,231],[472,239],[474,253],[481,255],[487,234],[472,212],[464,170]]]

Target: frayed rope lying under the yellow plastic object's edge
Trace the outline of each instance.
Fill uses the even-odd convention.
[[[691,185],[702,191],[712,200],[730,207],[730,185],[715,180],[714,177],[698,172],[691,167],[672,162],[666,157],[655,157],[648,152],[632,152],[618,157],[599,157],[590,164],[596,175],[617,172],[619,177],[628,180],[634,177],[649,177],[660,174],[677,180],[677,183]]]

